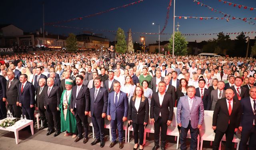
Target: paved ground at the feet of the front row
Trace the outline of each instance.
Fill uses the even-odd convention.
[[[92,128],[90,128],[92,130]],[[19,144],[15,143],[14,132],[8,132],[0,130],[0,150],[120,150],[119,144],[116,144],[113,148],[110,148],[109,136],[105,136],[106,144],[104,148],[100,148],[100,143],[91,146],[90,143],[93,141],[92,133],[89,133],[89,141],[86,144],[82,143],[82,140],[79,142],[74,142],[74,138],[64,137],[64,133],[61,133],[57,137],[53,137],[54,134],[46,136],[46,129],[38,130],[34,129],[34,135],[31,135],[30,130],[19,131]],[[108,130],[106,130],[106,134]],[[132,132],[130,132],[132,136]],[[189,149],[189,142],[187,146]],[[132,150],[134,146],[133,136],[130,137],[130,143],[125,143],[123,150]],[[144,150],[152,150],[154,146],[153,134],[150,134],[150,137],[147,137],[146,145]],[[176,150],[176,141],[174,141],[173,136],[168,136],[167,139],[167,150]],[[179,148],[180,149],[180,148]],[[210,150],[210,142],[204,142],[204,150]],[[160,148],[158,149],[160,150]],[[224,150],[224,146],[222,146]]]

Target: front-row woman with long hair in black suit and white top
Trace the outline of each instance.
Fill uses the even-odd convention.
[[[148,123],[148,98],[143,94],[143,88],[141,86],[136,86],[128,108],[128,123],[130,124],[130,122],[132,122],[134,131],[134,150],[137,150],[138,148],[138,139],[140,139],[139,149],[143,150],[144,126]]]

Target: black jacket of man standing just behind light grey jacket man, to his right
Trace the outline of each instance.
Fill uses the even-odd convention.
[[[201,97],[200,95],[200,89],[201,88],[196,88],[196,96],[197,97]],[[211,95],[210,95],[210,91],[207,88],[204,88],[204,96],[202,98],[203,104],[204,104],[204,110],[210,110],[211,108]]]

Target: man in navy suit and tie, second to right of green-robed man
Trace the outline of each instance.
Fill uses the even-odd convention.
[[[100,147],[104,147],[104,118],[106,117],[107,107],[108,107],[108,90],[102,88],[101,77],[96,77],[94,79],[94,86],[90,90],[90,112],[89,116],[92,117],[92,125],[94,128],[94,133],[96,139],[91,143],[95,145],[100,142]]]

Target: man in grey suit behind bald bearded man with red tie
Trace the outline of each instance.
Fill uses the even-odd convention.
[[[211,92],[212,105],[211,105],[210,110],[214,110],[216,102],[219,99],[225,98],[225,90],[224,90],[225,83],[224,83],[224,81],[218,81],[217,87],[218,87],[218,89],[212,90],[212,92]]]

